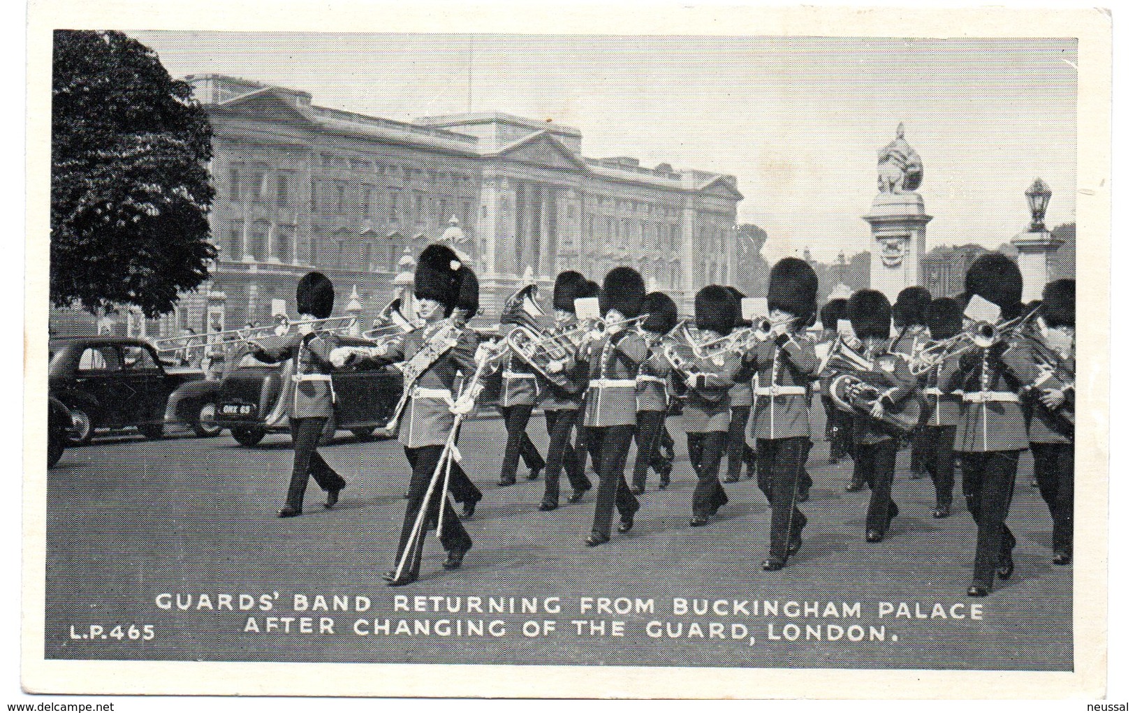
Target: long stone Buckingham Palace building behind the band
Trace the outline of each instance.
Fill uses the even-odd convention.
[[[481,278],[487,321],[528,283],[549,303],[569,268],[602,282],[632,266],[686,312],[703,285],[735,282],[733,176],[589,158],[579,129],[507,114],[395,121],[249,79],[186,81],[213,127],[219,257],[153,330],[294,316],[296,278],[311,269],[335,283],[337,314],[361,311],[369,325],[438,240]]]

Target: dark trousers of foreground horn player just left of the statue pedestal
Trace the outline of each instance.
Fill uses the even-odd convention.
[[[780,562],[788,559],[792,535],[808,522],[796,506],[807,447],[807,436],[757,441],[757,487],[772,508],[768,557]]]

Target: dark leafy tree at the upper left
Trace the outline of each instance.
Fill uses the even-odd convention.
[[[217,254],[204,110],[120,32],[56,31],[51,94],[52,302],[168,312]]]

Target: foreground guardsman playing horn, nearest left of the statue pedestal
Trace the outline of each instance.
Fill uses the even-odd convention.
[[[808,519],[797,509],[810,425],[808,384],[819,360],[814,345],[799,339],[816,313],[816,272],[798,258],[784,258],[768,275],[770,338],[743,356],[753,375],[753,413],[746,430],[757,453],[757,485],[772,506],[768,557],[764,570],[784,567],[801,544]]]

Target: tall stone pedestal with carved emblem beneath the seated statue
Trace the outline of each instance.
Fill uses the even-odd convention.
[[[892,303],[899,293],[922,283],[926,254],[926,215],[922,196],[911,192],[880,193],[863,217],[871,224],[871,287]]]

